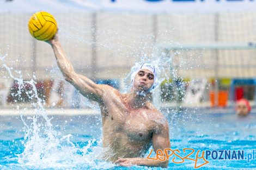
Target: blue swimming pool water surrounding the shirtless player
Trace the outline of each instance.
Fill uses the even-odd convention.
[[[245,154],[256,149],[255,114],[243,118],[233,113],[204,114],[201,110],[179,114],[166,111],[164,114],[169,121],[172,149],[181,152],[183,148],[196,151],[237,149],[244,150]],[[48,117],[52,118],[51,129],[44,123],[33,124],[33,116],[0,116],[1,169],[161,169],[119,167],[97,159],[102,150],[100,115]],[[38,116],[36,122],[44,122],[44,118]],[[249,163],[246,160],[208,161],[210,163],[198,169],[256,168],[255,160]],[[180,164],[170,161],[168,166],[168,169],[193,168],[191,160]]]

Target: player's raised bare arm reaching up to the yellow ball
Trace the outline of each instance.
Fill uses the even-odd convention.
[[[58,34],[56,34],[52,40],[48,41],[48,43],[52,46],[57,64],[65,80],[75,86],[83,96],[95,100],[96,102],[101,102],[103,86],[97,85],[89,78],[75,72],[63,52],[62,46],[58,40]]]

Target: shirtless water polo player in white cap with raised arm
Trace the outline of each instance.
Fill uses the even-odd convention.
[[[102,143],[107,150],[104,158],[120,166],[168,167],[167,159],[160,161],[144,158],[151,145],[155,152],[157,149],[170,148],[166,118],[150,102],[150,90],[156,86],[155,67],[141,65],[132,75],[131,92],[122,94],[111,86],[95,84],[77,74],[66,58],[57,34],[48,43],[53,48],[65,80],[83,96],[100,105]]]

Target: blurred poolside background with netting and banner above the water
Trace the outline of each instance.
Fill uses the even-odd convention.
[[[255,1],[28,1],[0,2],[0,108],[29,106],[35,80],[50,108],[87,108],[66,83],[45,42],[27,23],[36,11],[57,20],[60,41],[78,73],[124,91],[131,67],[168,58],[155,90],[162,107],[231,108],[256,96]],[[154,60],[151,61],[154,64]],[[128,78],[129,79],[129,78]]]

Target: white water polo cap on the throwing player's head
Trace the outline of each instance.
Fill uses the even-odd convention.
[[[145,92],[150,92],[151,90],[155,89],[155,87],[157,86],[157,73],[156,73],[156,67],[154,65],[148,64],[148,63],[144,63],[142,65],[140,65],[137,69],[137,71],[133,72],[131,75],[131,83],[133,86],[133,80],[135,79],[135,75],[142,69],[147,69],[149,71],[151,71],[154,74],[154,83],[153,85],[150,87],[150,89],[148,91]],[[141,95],[141,94],[139,94]],[[144,96],[144,95],[143,95]]]

